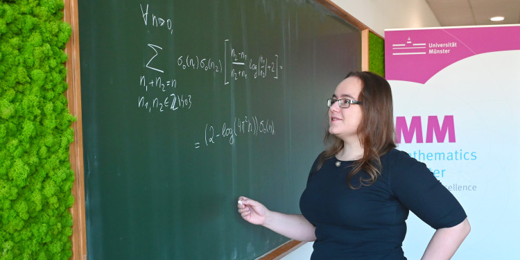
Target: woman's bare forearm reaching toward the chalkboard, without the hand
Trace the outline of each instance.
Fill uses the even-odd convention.
[[[264,227],[297,241],[315,241],[315,227],[302,215],[270,211]]]

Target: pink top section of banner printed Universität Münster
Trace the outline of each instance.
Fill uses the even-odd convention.
[[[480,53],[519,49],[520,25],[388,30],[385,76],[387,80],[424,84],[459,60]]]

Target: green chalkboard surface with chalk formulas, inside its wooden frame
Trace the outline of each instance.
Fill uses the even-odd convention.
[[[361,32],[312,1],[78,1],[87,253],[254,259],[288,239]]]

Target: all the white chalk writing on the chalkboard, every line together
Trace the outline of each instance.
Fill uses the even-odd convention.
[[[164,10],[154,9],[153,5],[149,4],[139,4],[139,9],[144,26],[148,30],[146,33],[174,35],[175,21],[172,17],[164,15],[162,13]],[[183,37],[176,39],[181,41]],[[171,41],[166,40],[166,42]],[[205,53],[214,48],[202,48],[202,51],[180,51],[178,46],[189,45],[189,42],[165,44],[158,40],[158,42],[144,44],[145,54],[142,59],[144,72],[139,76],[140,93],[137,95],[137,107],[148,113],[190,110],[194,100],[197,100],[193,98],[191,92],[193,90],[190,90],[194,87],[183,89],[183,86],[191,82],[191,78],[202,74],[211,78],[209,84],[222,84],[223,87],[234,82],[243,83],[245,80],[279,80],[280,76],[284,75],[282,73],[284,67],[281,66],[284,61],[280,60],[277,53],[244,51],[243,47],[233,45],[231,40],[223,40],[221,42],[223,45],[218,44],[220,45],[218,53]],[[208,44],[213,46],[215,42]],[[179,79],[184,85],[179,84]],[[235,117],[233,121],[221,125],[207,123],[204,135],[195,144],[195,148],[211,146],[219,141],[232,145],[240,136],[259,137],[260,135],[275,135],[275,122],[270,119],[259,119],[257,116]]]

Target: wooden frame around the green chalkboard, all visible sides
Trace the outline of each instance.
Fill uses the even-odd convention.
[[[372,31],[368,26],[361,21],[349,15],[348,12],[340,8],[331,0],[314,0],[328,8],[338,17],[344,19],[349,24],[362,31],[362,64],[363,70],[368,69],[368,32],[372,32],[378,37],[381,35]],[[69,23],[72,28],[71,38],[67,43],[65,52],[69,59],[65,66],[67,67],[67,84],[69,89],[65,92],[69,102],[69,111],[73,116],[76,116],[76,121],[73,122],[72,128],[74,130],[74,141],[70,146],[70,162],[71,168],[75,173],[75,181],[72,187],[72,194],[74,196],[74,204],[70,211],[73,218],[73,233],[72,241],[72,257],[74,260],[87,259],[87,235],[86,235],[86,221],[85,221],[85,186],[84,186],[84,168],[83,168],[83,126],[81,116],[81,84],[80,84],[80,49],[79,49],[79,28],[78,28],[78,0],[64,0],[64,21]],[[383,39],[383,37],[381,37]],[[262,260],[281,259],[293,250],[299,248],[304,242],[288,241],[271,252],[259,257]]]

